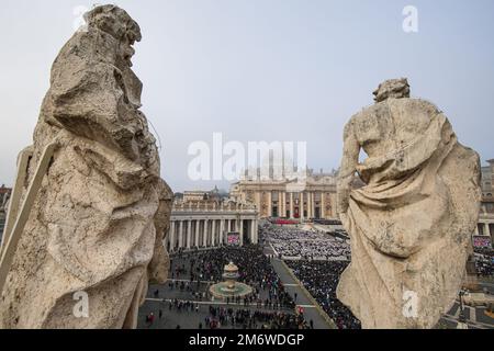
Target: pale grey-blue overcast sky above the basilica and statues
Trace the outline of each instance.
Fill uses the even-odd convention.
[[[494,158],[494,1],[116,1],[141,24],[134,69],[175,191],[210,189],[187,169],[192,141],[307,141],[308,166],[337,168],[343,128],[384,79],[407,77],[464,145]],[[2,0],[0,183],[31,144],[49,69],[93,2]],[[402,30],[405,5],[418,33]],[[218,184],[226,188],[225,183]]]

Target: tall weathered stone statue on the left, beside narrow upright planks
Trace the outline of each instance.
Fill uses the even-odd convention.
[[[53,65],[34,133],[25,184],[45,146],[57,149],[10,267],[1,328],[135,328],[148,281],[167,279],[172,194],[131,70],[141,30],[114,5],[86,20]]]

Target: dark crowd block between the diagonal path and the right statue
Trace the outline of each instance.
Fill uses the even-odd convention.
[[[360,321],[336,297],[339,279],[348,262],[288,261],[287,263],[338,329],[361,328]]]

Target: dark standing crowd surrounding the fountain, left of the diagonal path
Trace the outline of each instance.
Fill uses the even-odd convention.
[[[244,298],[227,299],[224,306],[210,305],[204,315],[201,305],[211,301],[204,286],[223,281],[224,268],[229,262],[239,268],[238,281],[250,285],[254,293]],[[168,292],[165,294],[187,301],[177,297],[164,299],[165,309],[190,316],[197,320],[200,329],[306,329],[312,326],[303,315],[295,314],[293,298],[284,290],[270,258],[259,246],[178,252],[171,257],[167,286]],[[159,290],[151,291],[150,295],[155,299],[162,297]],[[145,316],[147,327],[153,326],[156,319],[161,319],[161,309],[155,314]]]

